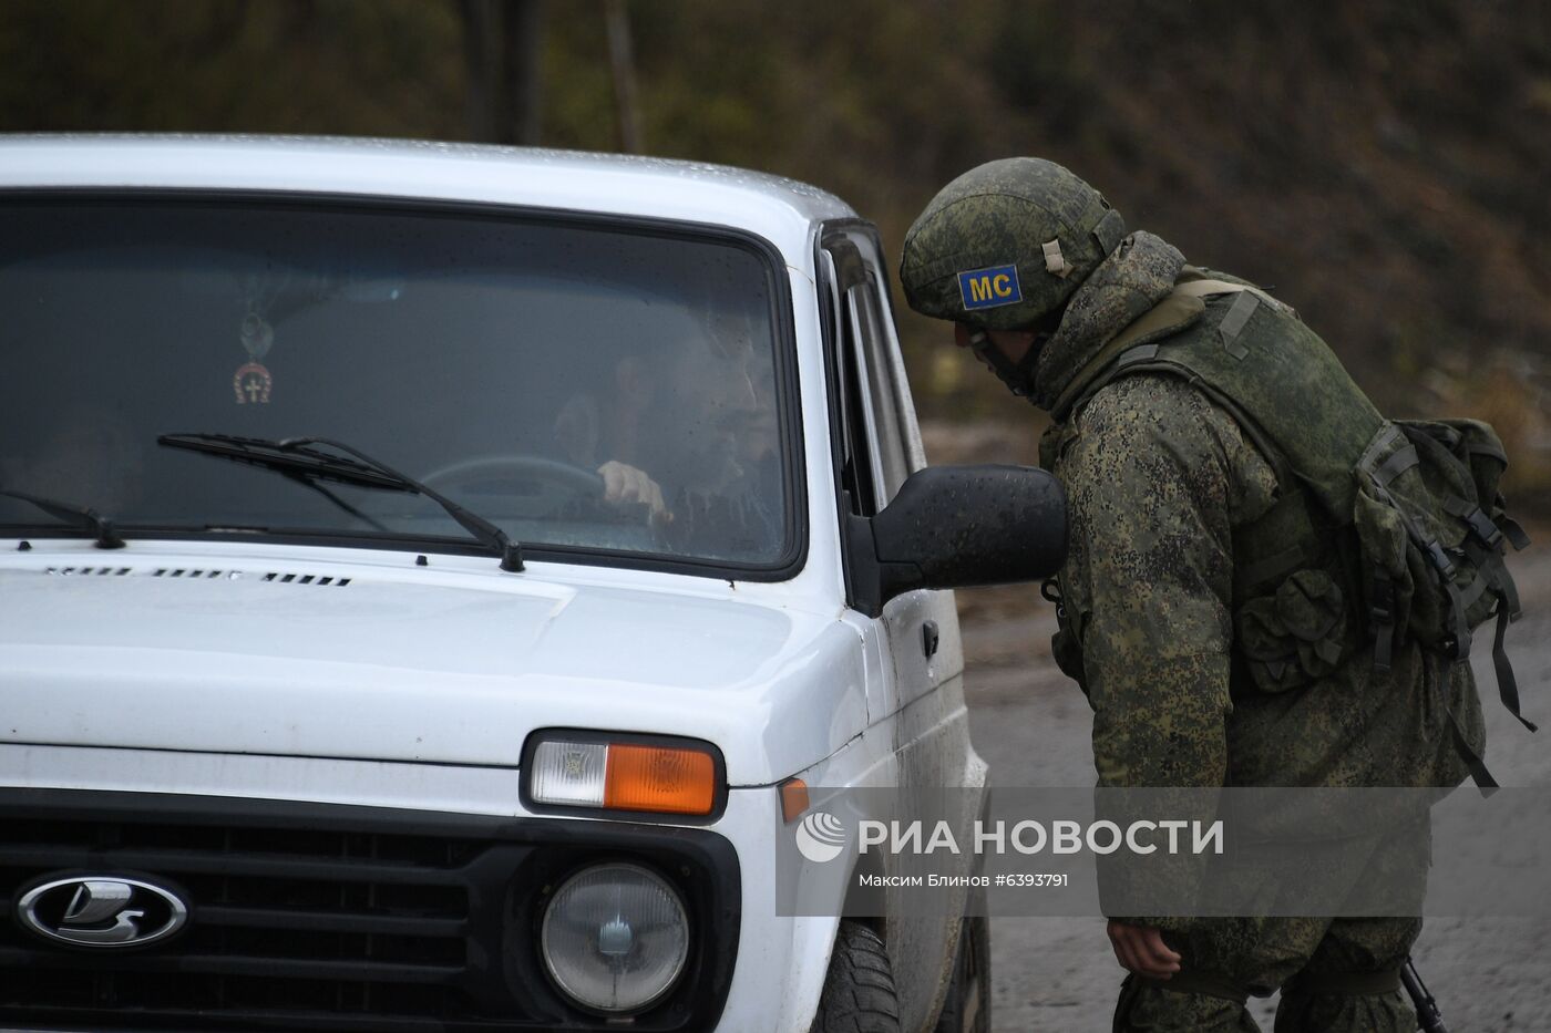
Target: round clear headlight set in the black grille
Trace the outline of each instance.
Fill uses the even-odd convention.
[[[544,968],[577,1004],[641,1011],[673,988],[689,959],[678,892],[634,864],[599,864],[561,884],[544,910]]]

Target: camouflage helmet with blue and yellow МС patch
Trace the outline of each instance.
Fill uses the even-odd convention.
[[[1003,158],[938,191],[904,234],[900,279],[910,307],[985,330],[1059,312],[1126,236],[1092,186],[1044,158]]]

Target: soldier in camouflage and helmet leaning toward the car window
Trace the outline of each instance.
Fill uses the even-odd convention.
[[[959,346],[1052,416],[1041,462],[1070,504],[1053,648],[1093,709],[1100,786],[1452,786],[1478,763],[1469,667],[1407,636],[1376,655],[1349,551],[1332,546],[1349,529],[1332,530],[1249,425],[1231,397],[1242,388],[1154,361],[1152,346],[1207,333],[1228,357],[1317,344],[1287,306],[1128,236],[1098,191],[1038,158],[943,188],[906,234],[900,275],[910,307],[951,320]],[[1306,413],[1311,451],[1346,419],[1320,400],[1340,397],[1315,382],[1286,399]],[[1352,419],[1368,419],[1362,405]],[[1117,915],[1109,937],[1131,976],[1115,1030],[1255,1030],[1247,996],[1281,988],[1278,1031],[1408,1033],[1399,968],[1419,931],[1419,918]]]

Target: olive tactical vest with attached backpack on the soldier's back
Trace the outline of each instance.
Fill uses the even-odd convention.
[[[1258,689],[1304,686],[1368,644],[1385,678],[1407,637],[1464,662],[1472,631],[1495,614],[1498,693],[1535,731],[1503,648],[1520,616],[1503,546],[1528,538],[1504,512],[1508,461],[1491,427],[1387,420],[1292,309],[1194,267],[1078,372],[1052,416],[1067,422],[1104,385],[1140,372],[1183,377],[1224,408],[1283,485],[1233,540],[1235,644]],[[1047,467],[1053,459],[1042,454]],[[1078,616],[1058,616],[1056,659],[1079,667]],[[1079,669],[1067,673],[1081,681]],[[1449,717],[1477,783],[1494,786]]]

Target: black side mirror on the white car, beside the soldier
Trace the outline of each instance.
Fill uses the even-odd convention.
[[[851,596],[872,616],[917,588],[1035,582],[1066,561],[1066,492],[1031,467],[926,467],[851,521]]]

